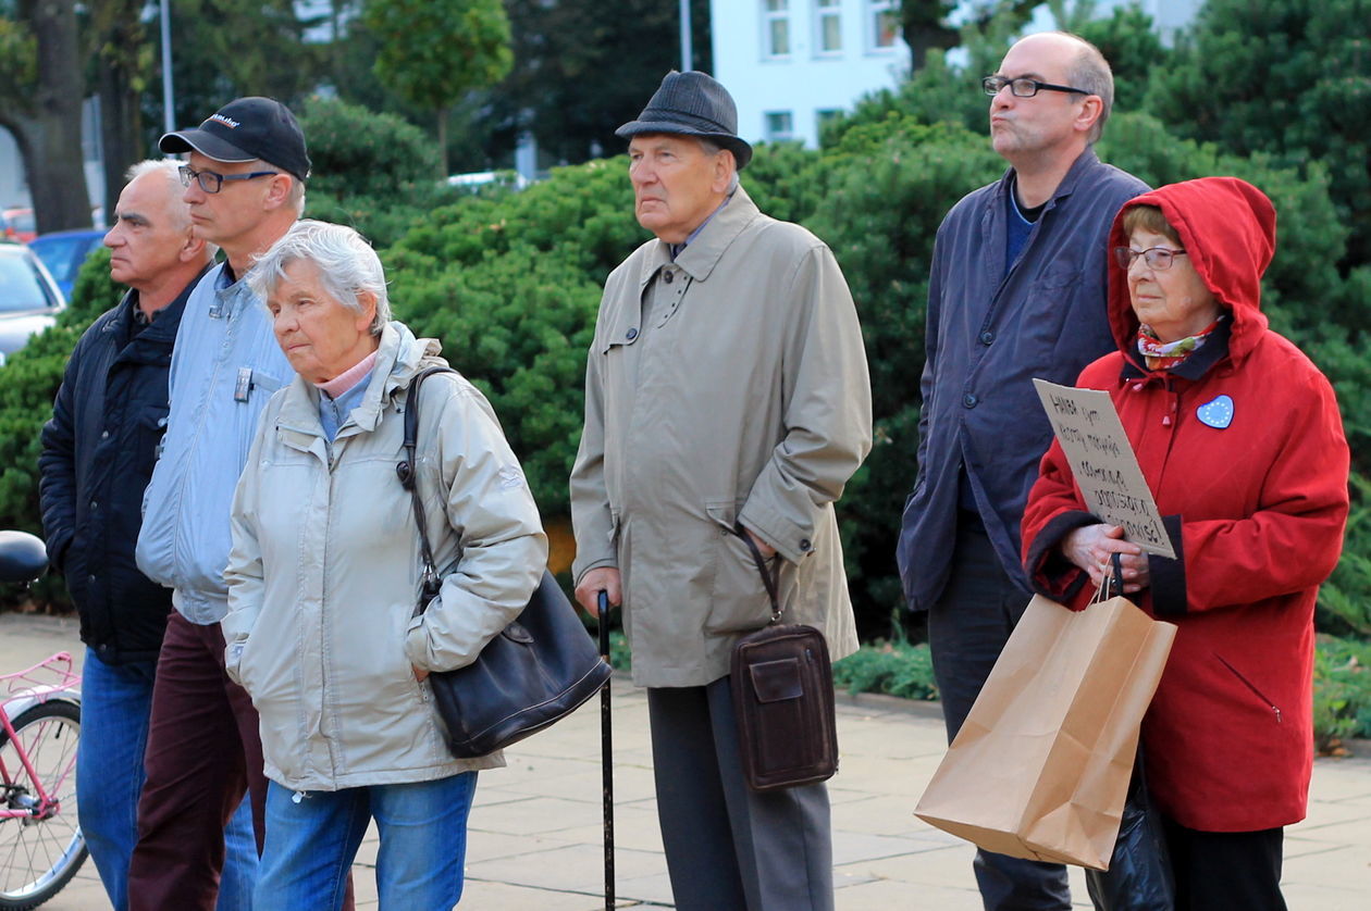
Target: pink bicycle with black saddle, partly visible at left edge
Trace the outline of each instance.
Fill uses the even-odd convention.
[[[32,582],[43,542],[0,532],[0,582]],[[55,896],[86,859],[77,822],[81,677],[58,652],[0,675],[0,908],[27,911]]]

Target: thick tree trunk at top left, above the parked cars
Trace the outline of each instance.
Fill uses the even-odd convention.
[[[29,112],[10,125],[23,153],[38,233],[90,226],[81,153],[85,89],[77,48],[75,0],[34,0],[38,85]]]

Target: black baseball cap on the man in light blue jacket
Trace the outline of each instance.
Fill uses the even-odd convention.
[[[310,175],[304,133],[291,108],[276,99],[229,101],[200,126],[167,133],[158,148],[169,155],[193,149],[215,162],[262,159],[300,181]]]

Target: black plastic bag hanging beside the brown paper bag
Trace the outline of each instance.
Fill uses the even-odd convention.
[[[1161,816],[1148,792],[1141,748],[1109,870],[1086,870],[1086,889],[1097,911],[1174,911],[1176,907],[1171,858]]]

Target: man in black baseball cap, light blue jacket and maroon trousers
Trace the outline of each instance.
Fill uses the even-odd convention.
[[[129,908],[211,911],[223,825],[245,790],[258,852],[266,832],[258,715],[223,673],[229,508],[258,415],[293,377],[271,316],[243,278],[304,210],[310,156],[289,108],[263,97],[230,101],[159,145],[189,153],[180,173],[195,234],[226,262],[185,304],[171,410],[138,534],[138,569],[173,589],[175,611],[152,692]]]

